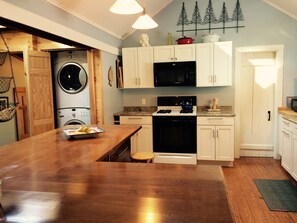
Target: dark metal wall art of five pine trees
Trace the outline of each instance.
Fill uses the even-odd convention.
[[[177,32],[182,32],[182,36],[184,36],[185,32],[193,32],[193,31],[195,31],[195,35],[197,36],[197,32],[200,30],[208,30],[208,32],[210,33],[211,30],[222,29],[223,33],[225,33],[225,29],[235,29],[236,28],[236,31],[238,32],[239,28],[244,27],[242,25],[241,26],[239,25],[239,21],[244,21],[244,17],[243,17],[242,9],[240,7],[239,0],[236,0],[232,18],[229,17],[226,4],[225,4],[225,2],[223,2],[223,7],[221,10],[219,19],[217,19],[216,15],[214,14],[212,0],[208,0],[208,6],[205,10],[205,15],[204,15],[203,21],[201,19],[198,1],[196,1],[193,15],[192,15],[192,20],[190,22],[187,17],[185,3],[183,2],[182,10],[181,10],[181,13],[179,16],[179,20],[177,22],[177,25],[182,25],[182,30],[177,30]],[[226,24],[230,23],[230,22],[236,22],[236,26],[226,26]],[[194,28],[185,29],[184,25],[192,25],[192,24],[194,25]],[[208,25],[208,27],[207,28],[206,27],[198,28],[198,24],[200,24],[201,26]],[[219,27],[212,26],[215,24],[222,24],[222,26],[219,26]]]

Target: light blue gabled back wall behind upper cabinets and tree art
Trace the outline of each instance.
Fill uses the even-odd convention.
[[[154,17],[159,27],[147,30],[136,31],[133,35],[124,40],[124,47],[140,46],[139,36],[141,33],[147,33],[150,37],[150,43],[153,46],[166,45],[167,33],[172,33],[173,40],[181,38],[181,33],[177,30],[181,26],[177,26],[177,21],[182,8],[182,3],[185,2],[185,8],[188,19],[191,20],[192,13],[195,6],[195,0],[174,0],[169,6],[163,9],[158,15]],[[205,10],[208,5],[208,0],[199,0],[198,6],[202,19],[205,15]],[[222,0],[212,1],[214,13],[219,17],[223,5]],[[235,8],[236,0],[228,0],[226,8],[229,17],[232,16]],[[294,79],[297,77],[297,21],[285,15],[284,13],[274,9],[262,0],[240,0],[241,9],[244,15],[244,21],[240,25],[245,28],[228,29],[223,34],[222,30],[213,30],[218,33],[222,38],[221,41],[233,41],[234,49],[243,46],[260,46],[260,45],[275,45],[284,44],[284,97],[287,95],[296,94],[294,91]],[[229,24],[227,24],[229,25]],[[234,25],[234,23],[230,24]],[[220,24],[214,25],[220,26]],[[193,27],[192,25],[189,28]],[[205,28],[203,26],[200,28]],[[208,31],[199,31],[195,36],[194,32],[186,32],[187,37],[192,37],[194,43],[202,42],[202,35],[207,34]],[[233,55],[235,50],[233,49]],[[235,56],[233,56],[233,67],[235,67]],[[234,69],[233,69],[234,70]],[[234,71],[233,71],[234,83]],[[124,91],[124,105],[140,105],[141,98],[145,97],[149,104],[156,104],[156,96],[158,95],[197,95],[199,105],[207,105],[208,100],[213,97],[219,98],[221,105],[234,106],[234,85],[232,87],[216,87],[216,88],[158,88],[158,89],[145,89],[145,90],[125,90]],[[285,105],[285,100],[283,101]]]

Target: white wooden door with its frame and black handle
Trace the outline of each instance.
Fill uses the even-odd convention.
[[[240,47],[235,67],[235,157],[274,157],[282,106],[283,45]]]

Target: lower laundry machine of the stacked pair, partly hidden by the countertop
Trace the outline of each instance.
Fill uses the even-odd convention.
[[[65,125],[89,125],[90,123],[90,109],[88,108],[63,108],[57,110],[58,127]]]

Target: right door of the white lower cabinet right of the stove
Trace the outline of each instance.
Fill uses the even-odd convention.
[[[234,160],[234,126],[216,126],[216,160]]]

